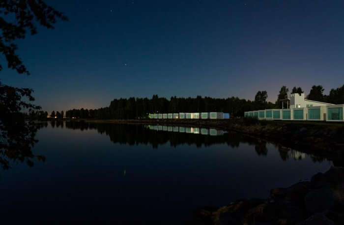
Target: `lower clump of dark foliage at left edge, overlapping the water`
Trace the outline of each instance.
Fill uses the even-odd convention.
[[[32,120],[26,120],[22,110],[29,113],[40,109],[30,102],[32,90],[14,88],[0,83],[0,166],[6,170],[11,162],[26,162],[33,166],[33,159],[45,161],[43,156],[34,155],[31,149],[37,139],[35,135],[42,126]],[[29,102],[24,99],[28,99]]]

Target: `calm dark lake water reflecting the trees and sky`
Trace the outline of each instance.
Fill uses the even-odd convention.
[[[45,162],[0,169],[1,216],[177,224],[198,207],[266,198],[332,165],[238,133],[176,128],[46,124],[32,149]]]

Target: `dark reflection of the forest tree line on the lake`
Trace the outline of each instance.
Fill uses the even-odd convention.
[[[54,128],[63,128],[63,123],[52,121],[51,125]],[[88,130],[95,129],[100,134],[106,134],[114,143],[129,144],[129,145],[152,145],[153,148],[158,148],[159,145],[170,143],[172,147],[179,145],[196,145],[198,148],[202,146],[207,147],[216,144],[227,144],[231,148],[238,148],[240,144],[246,143],[250,146],[255,146],[258,156],[265,157],[268,154],[268,148],[265,140],[255,137],[246,136],[238,132],[228,132],[221,136],[201,135],[194,133],[180,133],[169,132],[162,130],[147,129],[145,126],[125,125],[125,124],[111,124],[111,123],[87,123],[67,121],[65,123],[67,129]],[[283,161],[292,158],[294,160],[302,160],[305,154],[290,148],[285,148],[278,144],[274,144],[278,149],[280,157]],[[309,155],[313,161],[324,161],[325,158],[320,156]]]

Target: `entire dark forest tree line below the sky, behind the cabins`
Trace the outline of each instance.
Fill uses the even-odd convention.
[[[344,85],[337,89],[332,89],[329,95],[323,94],[321,85],[313,86],[307,99],[323,101],[333,104],[344,103]],[[275,103],[267,102],[267,92],[258,91],[255,100],[240,99],[238,97],[212,98],[212,97],[176,97],[170,99],[153,95],[152,98],[120,98],[111,101],[108,107],[98,109],[71,109],[67,110],[65,117],[82,119],[141,119],[147,118],[149,113],[175,113],[175,112],[226,112],[231,117],[242,117],[245,111],[281,108],[280,99],[288,97],[289,89],[283,86],[277,96]],[[294,87],[293,93],[304,93],[302,88]],[[285,105],[286,106],[286,105]],[[62,113],[62,115],[61,115]],[[63,111],[59,116],[63,118]],[[54,115],[53,115],[54,114]],[[57,113],[53,111],[51,117]]]

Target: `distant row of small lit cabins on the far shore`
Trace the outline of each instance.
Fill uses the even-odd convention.
[[[149,114],[150,119],[229,119],[229,113],[203,112],[203,113],[162,113]]]

